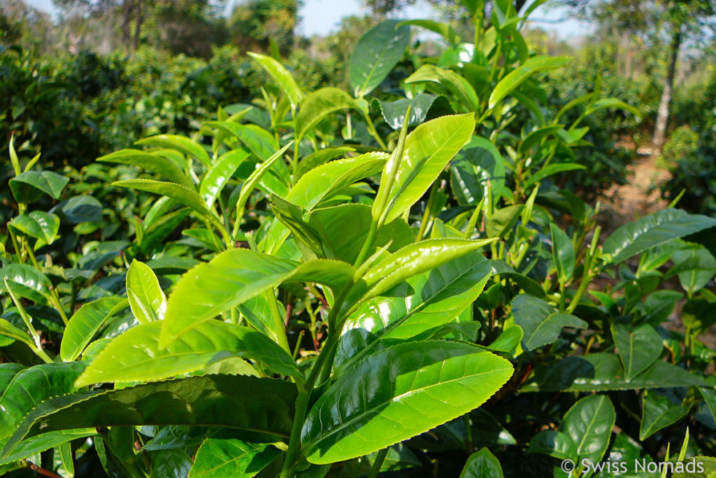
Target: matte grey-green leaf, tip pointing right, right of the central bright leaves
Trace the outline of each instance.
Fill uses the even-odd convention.
[[[559,313],[547,302],[526,294],[513,299],[512,315],[524,331],[522,346],[527,350],[553,343],[563,327],[584,329],[588,325],[579,317]]]

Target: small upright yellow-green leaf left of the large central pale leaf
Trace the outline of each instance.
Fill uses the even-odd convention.
[[[167,308],[167,298],[153,270],[143,262],[132,260],[127,269],[127,300],[132,314],[140,324],[162,320]]]

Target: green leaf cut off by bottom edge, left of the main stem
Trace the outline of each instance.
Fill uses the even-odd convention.
[[[279,453],[279,449],[267,444],[210,438],[196,452],[189,478],[253,477]]]

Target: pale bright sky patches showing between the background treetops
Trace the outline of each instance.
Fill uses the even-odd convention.
[[[52,0],[25,0],[27,4],[37,9],[54,13],[55,9]],[[236,1],[236,0],[234,0]],[[230,1],[230,4],[234,2]],[[299,11],[302,21],[299,25],[299,33],[306,37],[313,35],[324,36],[334,32],[344,16],[365,13],[361,9],[360,0],[304,0],[304,7]],[[405,11],[405,18],[429,19],[430,8],[425,6],[410,7]],[[545,9],[543,6],[536,9],[532,14],[533,19],[555,20],[560,18],[562,11]],[[589,29],[589,25],[581,21],[567,20],[559,23],[539,22],[533,23],[548,32],[556,32],[561,39],[577,37]]]

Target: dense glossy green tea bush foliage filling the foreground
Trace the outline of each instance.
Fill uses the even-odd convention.
[[[669,207],[604,237],[558,178],[588,166],[590,118],[634,108],[598,79],[556,102],[570,59],[528,49],[529,9],[463,4],[473,42],[364,32],[349,92],[306,90],[275,52],[249,55],[253,100],[212,97],[222,67],[182,82],[190,110],[172,78],[119,95],[102,124],[142,97],[173,129],[142,122],[86,166],[6,116],[1,472],[712,473],[716,219]],[[417,54],[413,29],[448,49]],[[92,97],[127,81],[91,70]]]

